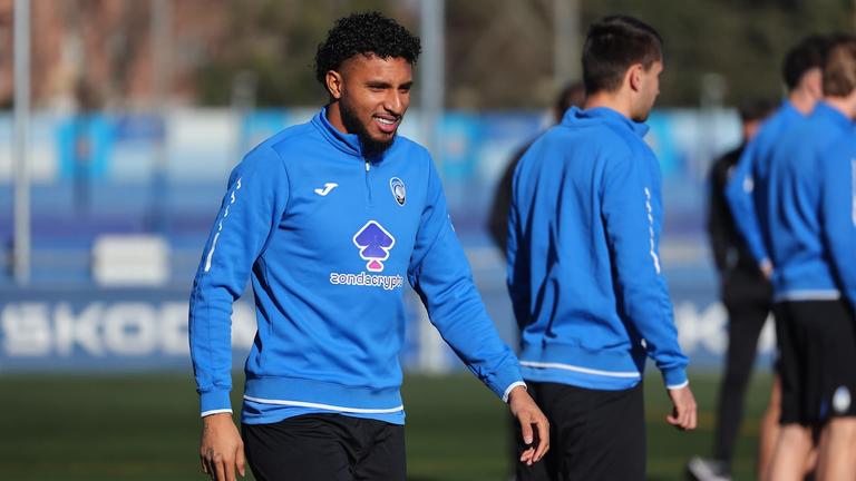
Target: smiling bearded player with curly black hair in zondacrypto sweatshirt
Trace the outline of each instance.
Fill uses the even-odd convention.
[[[396,135],[419,39],[378,13],[340,19],[319,46],[329,104],[233,170],[191,297],[203,470],[259,480],[403,480],[398,362],[403,283],[467,366],[507,400],[522,435],[547,421],[496,333],[455,236],[437,171]],[[246,360],[243,443],[232,421],[230,325],[250,278],[259,330]]]

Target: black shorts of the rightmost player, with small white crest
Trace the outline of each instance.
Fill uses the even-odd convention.
[[[856,415],[856,328],[839,301],[786,301],[774,306],[781,374],[781,424],[818,426]]]

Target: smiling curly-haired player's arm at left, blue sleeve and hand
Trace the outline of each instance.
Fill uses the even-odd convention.
[[[189,344],[203,433],[200,459],[213,479],[244,473],[241,436],[232,421],[232,305],[246,286],[288,202],[279,156],[259,148],[234,169],[193,284]]]

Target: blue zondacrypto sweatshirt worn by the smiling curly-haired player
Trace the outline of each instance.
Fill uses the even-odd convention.
[[[473,284],[428,151],[397,136],[376,161],[322,110],[235,167],[191,296],[203,415],[231,411],[231,314],[247,278],[257,333],[244,422],[338,412],[403,423],[403,283],[497,395],[521,383]]]

